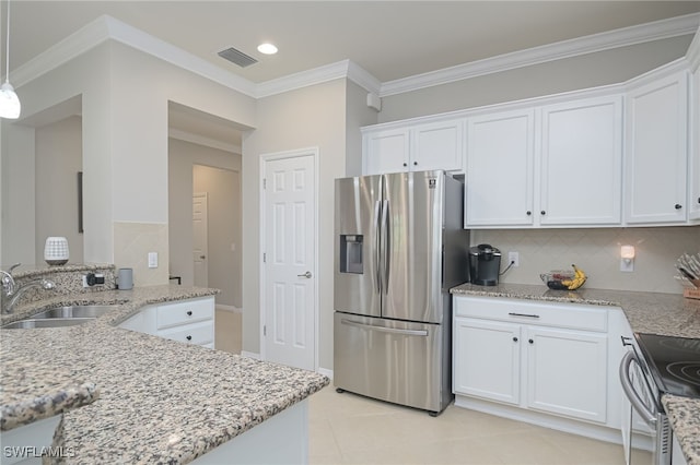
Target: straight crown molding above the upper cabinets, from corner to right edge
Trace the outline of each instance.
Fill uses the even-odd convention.
[[[387,81],[382,84],[380,96],[385,97],[388,95],[402,94],[548,61],[688,35],[695,33],[699,24],[700,13],[692,13],[575,39],[562,40],[409,78]]]

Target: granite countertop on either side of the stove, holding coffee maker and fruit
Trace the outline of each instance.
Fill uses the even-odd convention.
[[[552,290],[545,285],[462,284],[453,295],[505,297],[551,302],[619,307],[635,333],[700,338],[700,300],[681,295],[580,288]],[[664,394],[664,409],[688,465],[700,465],[700,400]]]

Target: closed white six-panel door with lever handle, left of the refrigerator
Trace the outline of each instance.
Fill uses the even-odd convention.
[[[315,154],[262,162],[262,344],[266,360],[315,369]]]

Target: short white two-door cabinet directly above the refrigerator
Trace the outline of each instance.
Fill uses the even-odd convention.
[[[364,175],[464,170],[464,118],[362,130]]]

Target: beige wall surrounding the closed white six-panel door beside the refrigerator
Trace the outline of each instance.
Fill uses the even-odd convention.
[[[243,141],[243,350],[259,353],[259,157],[318,147],[318,276],[320,367],[332,367],[334,179],[345,175],[346,80],[262,98],[258,127]]]

